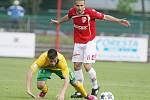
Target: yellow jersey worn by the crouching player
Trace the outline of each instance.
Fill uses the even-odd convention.
[[[58,61],[55,66],[51,66],[47,52],[42,53],[39,58],[31,65],[33,72],[36,72],[37,69],[50,69],[50,70],[60,70],[64,77],[69,76],[69,69],[66,63],[64,56],[57,52]]]

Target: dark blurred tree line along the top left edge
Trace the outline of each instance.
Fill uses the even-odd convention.
[[[14,0],[0,0],[0,11],[6,11]],[[57,9],[57,0],[19,0],[27,14],[47,12],[49,9]],[[62,9],[68,9],[73,5],[73,0],[62,0]],[[66,5],[68,4],[68,5]]]

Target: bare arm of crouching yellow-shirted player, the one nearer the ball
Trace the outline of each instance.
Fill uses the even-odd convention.
[[[64,100],[65,92],[67,90],[67,87],[69,85],[69,77],[64,78],[64,84],[62,89],[60,90],[60,93],[57,96],[57,100]]]

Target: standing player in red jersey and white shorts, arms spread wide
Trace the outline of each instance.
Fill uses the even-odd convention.
[[[96,19],[108,20],[116,22],[124,26],[129,26],[129,22],[124,19],[118,19],[110,15],[97,12],[95,9],[86,8],[85,0],[75,0],[74,7],[71,8],[67,15],[60,20],[51,20],[51,23],[60,24],[69,19],[73,19],[74,23],[74,51],[72,62],[74,62],[75,77],[77,80],[83,83],[83,73],[81,65],[84,65],[86,72],[89,73],[89,77],[92,84],[92,95],[97,96],[99,91],[99,85],[96,79],[96,72],[92,67],[92,63],[95,63],[96,59]],[[81,97],[81,94],[75,92],[71,96]]]

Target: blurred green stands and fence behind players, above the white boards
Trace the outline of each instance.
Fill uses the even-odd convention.
[[[34,33],[36,36],[35,56],[56,46],[66,57],[71,58],[73,50],[72,21],[61,24],[60,30],[50,24],[67,14],[73,0],[18,0],[23,10],[15,21],[9,13],[14,0],[0,0],[0,33]],[[118,18],[127,18],[131,26],[97,21],[98,36],[146,37],[150,35],[150,0],[86,0],[87,7]],[[60,15],[60,16],[59,16]],[[16,25],[17,24],[17,25]],[[59,35],[57,35],[57,32]],[[58,36],[58,37],[57,37]],[[60,37],[59,37],[60,36]],[[150,49],[148,49],[150,55]]]

